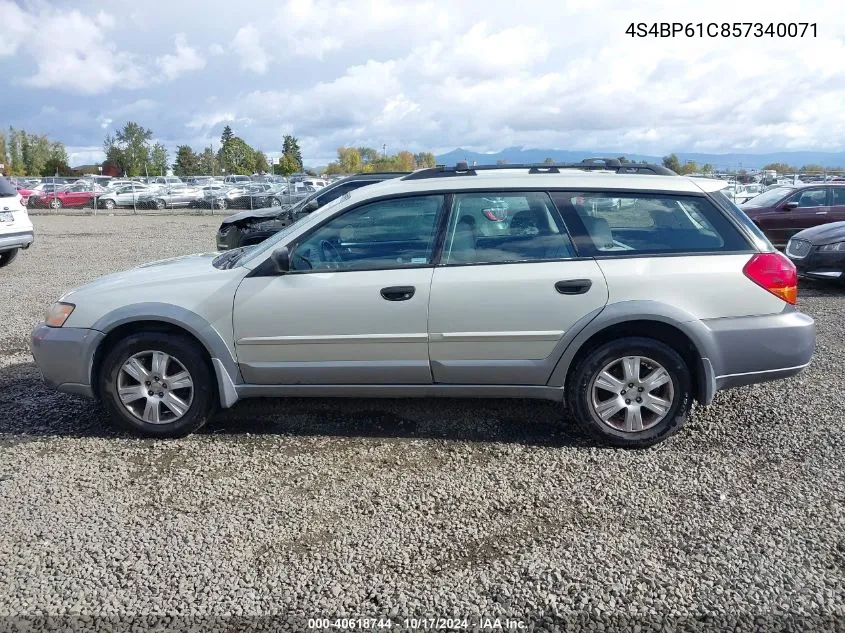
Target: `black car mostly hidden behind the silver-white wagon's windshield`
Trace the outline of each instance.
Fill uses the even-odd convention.
[[[405,175],[407,174],[394,172],[358,174],[315,191],[294,205],[283,204],[282,201],[287,198],[282,196],[278,199],[279,204],[271,201],[271,204],[267,205],[270,208],[242,211],[230,215],[223,220],[217,230],[217,248],[228,250],[258,244],[291,224],[300,215],[316,211],[350,191]]]

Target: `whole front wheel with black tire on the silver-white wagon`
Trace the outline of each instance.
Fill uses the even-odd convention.
[[[154,355],[161,354],[168,360],[163,371],[155,371]],[[133,364],[132,373],[124,370],[133,357],[143,372],[139,371],[138,364]],[[161,365],[157,369],[160,370]],[[167,385],[168,378],[179,374],[182,374],[180,384],[187,384],[183,372],[188,374],[190,388],[174,387],[173,383]],[[185,336],[140,332],[121,339],[103,359],[98,386],[103,405],[115,426],[149,437],[189,435],[201,428],[216,408],[214,375],[198,345]],[[137,391],[134,391],[136,387]],[[128,394],[124,396],[126,404],[119,395],[121,388]],[[163,397],[159,397],[161,395]],[[178,406],[171,409],[168,403],[173,406],[178,403]],[[154,421],[156,418],[158,422]]]

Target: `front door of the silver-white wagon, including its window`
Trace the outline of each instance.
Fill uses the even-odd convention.
[[[443,196],[366,203],[291,244],[291,271],[248,277],[234,333],[253,384],[428,384],[428,303]]]

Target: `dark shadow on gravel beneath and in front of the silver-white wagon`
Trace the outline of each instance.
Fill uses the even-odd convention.
[[[597,446],[553,402],[261,398],[217,413],[198,435],[298,435]],[[47,386],[32,362],[0,367],[0,447],[38,437],[128,437],[97,403]]]

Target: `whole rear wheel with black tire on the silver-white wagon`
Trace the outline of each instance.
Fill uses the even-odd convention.
[[[633,361],[630,370],[626,369],[622,360],[626,357],[639,357],[638,371],[633,370]],[[660,382],[656,379],[662,374],[653,373],[658,367],[668,380],[649,389],[649,378]],[[639,381],[632,378],[634,374],[640,376]],[[629,380],[624,379],[626,375]],[[649,404],[637,404],[640,397]],[[683,358],[668,345],[645,337],[620,338],[597,347],[578,362],[567,381],[567,405],[578,424],[611,446],[646,448],[663,441],[684,425],[691,404],[692,375]],[[599,405],[606,406],[604,420]],[[657,413],[649,405],[664,412]],[[616,412],[608,415],[614,409]],[[636,411],[640,412],[639,424]]]

